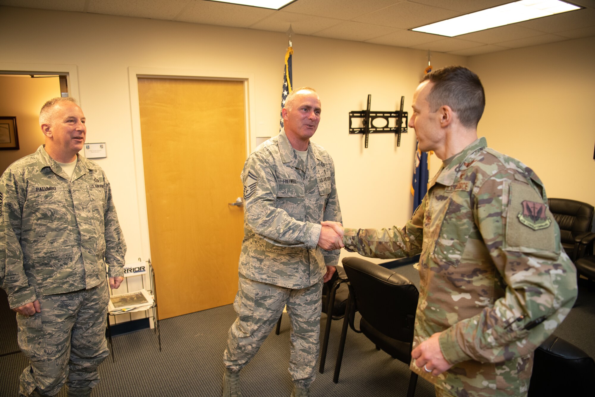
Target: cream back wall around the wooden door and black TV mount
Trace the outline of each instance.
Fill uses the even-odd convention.
[[[48,32],[57,26],[84,29],[66,39],[48,41]],[[112,185],[128,245],[127,262],[146,260],[149,255],[138,213],[145,192],[137,191],[133,183],[142,169],[135,168],[133,157],[130,95],[137,93],[129,92],[129,67],[253,75],[255,108],[250,114],[256,119],[252,123],[256,131],[250,131],[250,147],[254,148],[256,137],[278,132],[285,33],[0,7],[0,37],[4,61],[77,66],[87,141],[107,143],[108,157],[97,162]],[[64,51],[65,41],[68,51]],[[365,149],[361,135],[348,133],[348,113],[364,109],[368,94],[372,94],[372,110],[395,110],[405,95],[405,108],[411,111],[412,94],[427,66],[427,51],[300,35],[293,36],[292,42],[293,86],[312,86],[321,97],[322,118],[313,140],[334,158],[345,224],[403,224],[412,212],[415,134],[404,134],[400,147],[392,134],[371,135]],[[436,67],[465,61],[466,57],[455,55],[432,57]],[[214,134],[224,131],[222,125]]]

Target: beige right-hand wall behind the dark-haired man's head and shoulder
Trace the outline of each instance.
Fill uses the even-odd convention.
[[[595,205],[595,37],[469,58],[486,90],[488,145],[532,168],[548,197]]]

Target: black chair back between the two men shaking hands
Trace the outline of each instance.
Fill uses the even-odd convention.
[[[343,259],[350,294],[362,319],[380,333],[402,342],[413,340],[419,292],[411,281],[365,259]]]

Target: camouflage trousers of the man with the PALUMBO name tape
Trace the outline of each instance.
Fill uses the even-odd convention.
[[[105,340],[107,282],[88,290],[39,297],[41,312],[17,313],[18,346],[30,365],[20,395],[54,396],[65,382],[68,395],[88,395],[99,383],[97,366],[108,356]]]

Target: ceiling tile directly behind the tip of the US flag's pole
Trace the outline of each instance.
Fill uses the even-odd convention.
[[[272,30],[273,32],[287,32],[291,24],[293,32],[298,35],[312,35],[312,33],[319,32],[321,29],[326,29],[341,22],[343,20],[288,13],[287,11],[275,11],[274,14],[250,25],[250,27],[252,29]]]

